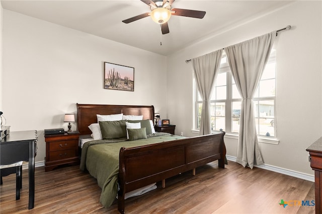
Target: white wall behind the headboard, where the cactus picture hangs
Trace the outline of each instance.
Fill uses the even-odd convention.
[[[45,157],[43,130],[67,130],[63,116],[76,113],[75,103],[154,105],[167,114],[158,90],[166,57],[8,10],[3,18],[2,111],[11,131],[39,131],[36,162]],[[103,62],[134,67],[134,92],[103,89]]]

